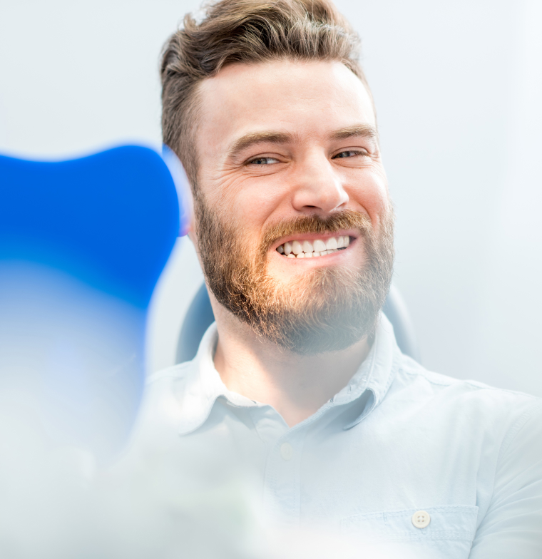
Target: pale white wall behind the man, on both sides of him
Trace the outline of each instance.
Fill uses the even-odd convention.
[[[542,395],[542,7],[341,0],[364,40],[397,207],[395,282],[436,371]],[[160,143],[158,53],[194,1],[0,0],[0,153]],[[181,241],[150,312],[173,363],[201,282]]]

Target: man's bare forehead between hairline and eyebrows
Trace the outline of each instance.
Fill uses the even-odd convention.
[[[311,138],[352,124],[376,125],[367,89],[338,61],[232,64],[204,80],[198,93],[202,155],[247,133],[282,130]]]

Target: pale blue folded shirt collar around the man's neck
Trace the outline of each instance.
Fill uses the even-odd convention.
[[[257,402],[227,389],[215,369],[214,355],[218,342],[216,324],[205,332],[193,361],[186,364],[183,382],[178,385],[177,399],[179,409],[179,434],[195,431],[208,419],[218,398],[223,398],[232,406],[254,407]],[[400,350],[395,342],[392,324],[381,315],[374,342],[369,354],[347,386],[339,391],[332,402],[334,405],[349,404],[357,400],[365,391],[372,392],[372,400],[365,406],[362,414],[344,427],[350,429],[357,425],[367,414],[382,402],[392,384],[398,368],[397,355]]]

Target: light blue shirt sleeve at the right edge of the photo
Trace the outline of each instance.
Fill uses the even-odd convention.
[[[491,505],[469,559],[542,558],[542,404],[516,421],[499,454]]]

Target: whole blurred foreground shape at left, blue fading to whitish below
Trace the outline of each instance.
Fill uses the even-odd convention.
[[[58,163],[0,155],[0,399],[101,460],[131,431],[147,307],[186,228],[188,185],[171,165],[138,146]]]

